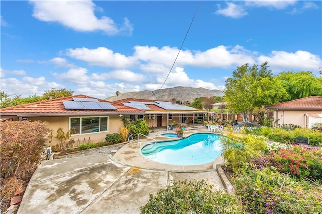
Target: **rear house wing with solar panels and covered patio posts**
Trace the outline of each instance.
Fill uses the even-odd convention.
[[[149,127],[167,126],[172,123],[197,123],[203,121],[203,114],[208,113],[200,109],[192,108],[185,105],[179,105],[176,100],[156,101],[146,99],[127,98],[123,100],[114,101],[128,107],[144,110],[145,115],[143,119],[147,121]],[[138,118],[128,118],[136,120]]]

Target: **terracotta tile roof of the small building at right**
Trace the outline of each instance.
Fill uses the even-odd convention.
[[[322,110],[322,97],[310,96],[283,103],[265,106],[267,109],[320,109]]]

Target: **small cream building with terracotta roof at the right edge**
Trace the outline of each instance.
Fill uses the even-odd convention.
[[[265,107],[273,110],[275,126],[294,124],[311,128],[322,123],[322,97],[310,96]]]

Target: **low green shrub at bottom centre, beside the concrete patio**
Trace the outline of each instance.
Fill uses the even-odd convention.
[[[179,181],[150,194],[141,213],[243,213],[235,195],[213,192],[213,186],[201,181]]]

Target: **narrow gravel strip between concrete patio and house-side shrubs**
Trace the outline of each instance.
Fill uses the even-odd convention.
[[[85,157],[85,156],[97,156],[97,155],[108,155],[111,153],[112,150],[119,150],[122,148],[126,143],[120,143],[111,146],[103,146],[94,149],[87,149],[83,151],[73,152],[66,155],[59,155],[55,154],[54,159],[57,158],[72,158],[72,157]]]

